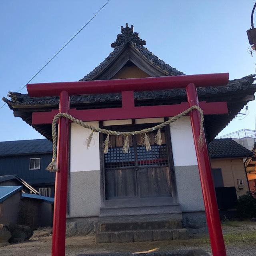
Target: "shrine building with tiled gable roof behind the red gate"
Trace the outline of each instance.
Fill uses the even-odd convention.
[[[133,32],[133,27],[129,28],[127,24],[125,28],[121,28],[121,32],[111,44],[114,51],[80,81],[184,75],[145,48],[146,42],[138,37],[138,33]],[[229,114],[205,116],[208,141],[215,138],[248,101],[254,100],[256,86],[253,82],[254,76],[250,75],[231,80],[218,88],[198,88],[200,101],[227,102],[228,106]],[[32,124],[32,113],[56,111],[59,97],[32,98],[28,94],[17,92],[11,92],[9,96],[11,99],[4,98],[4,101],[14,115],[52,140],[52,125]],[[181,104],[187,101],[184,89],[134,92],[134,100],[135,106]],[[120,93],[70,97],[70,109],[120,106]],[[152,127],[168,118],[163,116],[89,123],[109,130],[134,131]],[[182,218],[185,224],[190,220],[191,223],[203,222],[204,202],[190,117],[180,118],[170,127],[162,128],[161,132],[161,146],[154,143],[155,134],[150,134],[152,151],[146,151],[140,144],[141,136],[132,136],[128,154],[122,153],[122,136],[110,136],[112,147],[104,154],[104,134],[94,132],[92,143],[86,148],[85,140],[91,131],[71,123],[68,222],[100,220],[104,224],[118,220],[181,221]],[[233,162],[235,161],[232,164]],[[242,178],[246,184],[246,178],[237,177]]]

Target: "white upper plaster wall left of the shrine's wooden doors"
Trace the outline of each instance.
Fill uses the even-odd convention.
[[[98,122],[88,122],[98,127]],[[89,148],[86,148],[86,138],[91,130],[78,124],[71,124],[70,137],[70,172],[100,170],[100,141],[98,132],[94,132]]]

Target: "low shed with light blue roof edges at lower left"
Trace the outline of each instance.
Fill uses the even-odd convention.
[[[51,226],[54,198],[22,192],[24,186],[0,186],[0,224]]]

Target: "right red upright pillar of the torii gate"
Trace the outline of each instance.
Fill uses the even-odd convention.
[[[186,86],[186,93],[188,103],[190,106],[198,105],[198,96],[196,87],[193,83]],[[192,125],[192,132],[194,137],[194,144],[196,148],[196,158],[198,162],[199,175],[202,186],[202,193],[204,198],[204,207],[206,213],[206,220],[208,224],[210,242],[212,246],[213,256],[226,256],[226,249],[222,235],[220,224],[220,216],[218,213],[218,205],[214,184],[212,180],[212,168],[210,165],[208,149],[206,145],[205,135],[203,131],[203,145],[198,145],[198,138],[200,136],[200,114],[197,110],[193,110],[190,114],[190,121]]]

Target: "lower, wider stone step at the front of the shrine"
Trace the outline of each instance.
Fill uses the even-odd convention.
[[[129,230],[96,233],[96,243],[146,242],[162,240],[184,240],[189,234],[186,228],[162,230]]]

